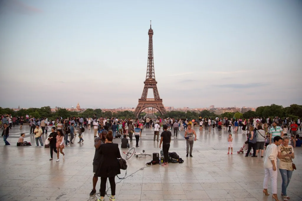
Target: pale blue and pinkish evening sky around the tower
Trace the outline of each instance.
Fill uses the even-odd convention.
[[[302,1],[3,0],[1,107],[302,104]]]

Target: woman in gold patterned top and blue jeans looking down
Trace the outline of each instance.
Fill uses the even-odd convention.
[[[282,177],[281,196],[283,196],[283,200],[289,199],[286,194],[286,189],[291,181],[291,175],[293,174],[293,161],[291,159],[295,158],[294,148],[288,143],[289,137],[284,136],[283,144],[278,146],[278,159],[280,159],[279,171]]]

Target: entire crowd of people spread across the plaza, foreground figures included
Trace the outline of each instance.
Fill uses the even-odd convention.
[[[51,129],[50,134],[46,140],[50,147],[50,160],[53,160],[53,152],[57,154],[56,162],[59,162],[59,153],[65,157],[63,149],[69,146],[70,143],[73,144],[73,139],[75,135],[79,136],[79,142],[84,142],[82,133],[85,129],[92,130],[95,137],[95,157],[93,160],[93,189],[90,195],[96,193],[96,183],[98,177],[101,177],[101,187],[100,193],[101,197],[98,200],[104,200],[105,188],[107,178],[111,186],[111,197],[112,201],[115,200],[115,181],[114,177],[120,174],[120,167],[117,159],[121,158],[120,150],[117,144],[112,143],[114,139],[121,138],[121,148],[129,148],[130,142],[133,140],[133,135],[136,140],[136,147],[139,147],[139,140],[144,129],[154,130],[153,140],[159,142],[159,132],[162,131],[160,135],[159,148],[162,146],[164,154],[164,162],[162,166],[168,166],[168,152],[171,142],[172,133],[177,137],[178,131],[185,131],[186,140],[186,157],[192,156],[193,144],[196,141],[197,135],[195,130],[192,129],[194,126],[198,126],[199,121],[199,131],[209,131],[218,129],[221,132],[222,129],[226,129],[231,132],[231,127],[233,127],[233,133],[238,133],[241,130],[246,133],[246,144],[248,149],[246,152],[246,157],[249,156],[251,149],[253,149],[252,157],[265,157],[264,167],[265,167],[265,179],[263,182],[263,193],[268,195],[267,186],[268,181],[271,180],[272,187],[272,198],[278,200],[277,197],[277,161],[280,159],[279,171],[282,176],[282,196],[284,200],[289,199],[287,196],[286,188],[291,180],[291,174],[293,171],[292,160],[294,159],[294,147],[301,146],[301,137],[297,134],[297,130],[301,131],[301,120],[300,118],[295,121],[294,119],[275,117],[273,120],[271,118],[249,118],[249,119],[236,119],[235,117],[228,118],[202,118],[199,119],[188,119],[188,118],[108,118],[101,117],[97,118],[96,115],[93,117],[73,117],[73,118],[62,118],[58,117],[55,119],[44,118],[34,118],[26,115],[25,119],[23,117],[12,117],[11,115],[3,115],[1,117],[1,128],[2,137],[4,138],[5,145],[10,145],[7,141],[9,136],[9,129],[13,129],[15,126],[19,126],[22,130],[24,122],[28,123],[30,127],[30,134],[35,135],[36,145],[43,146],[41,136],[43,134],[48,134],[48,129]],[[290,133],[290,136],[287,136]],[[18,140],[17,146],[30,146],[31,144],[24,141],[24,133]],[[70,137],[69,137],[70,136]],[[228,154],[233,154],[233,137],[232,134],[228,135]],[[266,154],[264,155],[264,149],[266,149]]]

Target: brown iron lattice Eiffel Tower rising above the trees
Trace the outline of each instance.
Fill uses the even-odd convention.
[[[151,21],[150,21],[150,29],[148,31],[149,35],[149,48],[148,48],[148,62],[147,62],[147,74],[146,80],[144,81],[144,89],[142,93],[142,97],[138,99],[138,105],[135,108],[134,115],[138,117],[145,108],[156,108],[161,115],[166,114],[167,111],[162,104],[162,99],[159,97],[159,93],[157,90],[157,82],[155,80],[155,72],[154,72],[154,61],[153,61],[153,30],[151,29]],[[154,99],[147,99],[148,89],[153,89]]]

